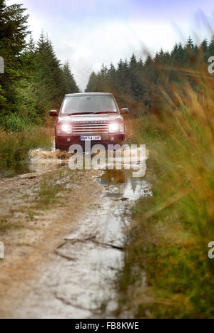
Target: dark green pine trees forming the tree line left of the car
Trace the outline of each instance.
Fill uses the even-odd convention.
[[[0,126],[22,129],[41,124],[51,108],[58,108],[63,95],[78,93],[68,62],[56,57],[54,46],[41,33],[34,42],[28,30],[26,9],[6,6],[0,0],[0,56],[4,75],[0,75]]]

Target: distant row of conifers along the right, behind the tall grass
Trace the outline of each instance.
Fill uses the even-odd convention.
[[[146,60],[120,60],[114,66],[102,65],[98,73],[91,73],[86,92],[111,92],[121,107],[132,107],[133,112],[151,112],[160,102],[160,90],[168,91],[173,84],[183,86],[184,80],[197,89],[195,77],[198,73],[208,74],[208,58],[214,56],[214,36],[204,40],[200,46],[188,38],[186,43],[175,43],[173,50],[161,51]],[[160,106],[160,105],[159,105]]]

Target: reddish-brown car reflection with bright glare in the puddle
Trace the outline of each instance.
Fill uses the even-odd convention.
[[[131,170],[108,170],[98,181],[104,195],[116,200],[138,200],[151,196],[151,185],[142,178],[133,178]]]

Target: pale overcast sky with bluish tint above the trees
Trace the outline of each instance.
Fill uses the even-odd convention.
[[[118,63],[134,52],[145,58],[170,50],[189,35],[210,38],[213,0],[8,0],[24,4],[29,28],[38,40],[41,30],[54,43],[57,57],[69,60],[77,84],[84,90],[92,70]],[[205,20],[204,20],[205,18]]]

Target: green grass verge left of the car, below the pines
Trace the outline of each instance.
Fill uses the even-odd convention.
[[[30,149],[50,148],[49,129],[31,127],[21,132],[0,130],[0,167],[4,168],[24,162]]]

